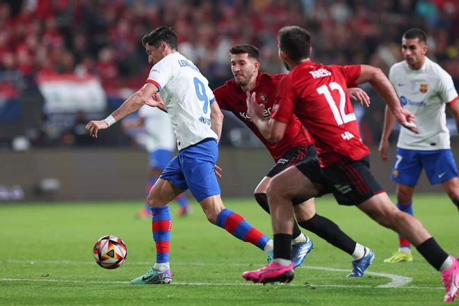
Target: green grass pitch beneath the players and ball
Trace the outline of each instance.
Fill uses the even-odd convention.
[[[270,220],[255,200],[224,202],[271,236]],[[171,205],[173,284],[131,285],[154,262],[151,224],[134,219],[140,205],[0,205],[0,305],[443,305],[440,274],[416,250],[412,263],[384,264],[396,250],[396,234],[328,197],[316,200],[318,213],[376,253],[360,279],[345,277],[349,255],[309,234],[315,248],[291,284],[245,282],[241,273],[265,264],[264,253],[208,223],[193,203],[194,213],[185,218]],[[459,255],[458,211],[446,195],[415,195],[414,214],[447,252]],[[127,244],[127,261],[115,270],[92,259],[92,245],[106,234]]]

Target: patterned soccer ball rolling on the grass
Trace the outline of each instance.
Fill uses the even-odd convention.
[[[106,269],[115,269],[124,264],[127,257],[127,248],[117,236],[108,235],[99,239],[94,248],[92,255],[99,266]]]

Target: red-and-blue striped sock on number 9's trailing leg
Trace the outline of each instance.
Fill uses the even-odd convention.
[[[259,232],[255,227],[252,227],[243,217],[227,208],[218,214],[216,225],[224,228],[227,232],[242,241],[257,245],[261,250],[264,250],[266,243],[269,241],[267,236]]]

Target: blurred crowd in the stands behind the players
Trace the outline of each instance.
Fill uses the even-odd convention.
[[[419,27],[428,33],[428,56],[458,84],[457,0],[0,1],[0,96],[19,105],[8,106],[2,115],[0,99],[0,146],[19,135],[34,145],[89,144],[84,134],[76,140],[84,133],[83,122],[118,107],[129,93],[120,88],[136,89],[145,81],[150,65],[140,38],[157,26],[175,29],[179,51],[216,88],[232,77],[228,49],[234,44],[259,47],[262,71],[284,71],[277,58],[277,31],[292,24],[312,33],[314,61],[367,63],[386,73],[402,60],[403,32]],[[49,113],[38,79],[69,74],[96,76],[106,92],[106,109]],[[364,89],[373,97],[371,89]],[[376,105],[369,110],[356,110],[370,144],[378,143],[384,108],[377,97],[373,100]],[[239,128],[236,122],[227,124],[230,136],[223,143],[250,144],[250,134]],[[49,130],[54,134],[47,135]],[[115,129],[99,144],[131,143],[129,136],[115,132],[124,135]]]

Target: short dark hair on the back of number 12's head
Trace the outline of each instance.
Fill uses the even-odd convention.
[[[311,34],[299,26],[284,26],[277,35],[280,51],[284,51],[292,61],[309,58]]]

